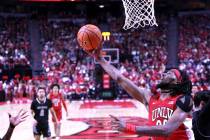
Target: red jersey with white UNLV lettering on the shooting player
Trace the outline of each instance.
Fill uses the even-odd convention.
[[[179,97],[180,95],[160,100],[160,94],[152,96],[149,101],[149,124],[164,125],[176,110],[176,101]],[[170,136],[155,136],[153,140],[189,140],[191,133],[190,128],[183,122]]]

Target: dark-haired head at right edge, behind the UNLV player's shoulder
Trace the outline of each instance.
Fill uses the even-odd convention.
[[[203,107],[210,100],[210,90],[198,91],[194,96],[195,107]]]

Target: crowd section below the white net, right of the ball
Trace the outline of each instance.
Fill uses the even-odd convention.
[[[145,28],[130,33],[118,31],[110,39],[110,44],[120,49],[121,63],[118,68],[138,86],[153,87],[165,70],[167,22],[164,17],[161,19],[158,28]],[[119,27],[119,23],[113,19],[111,23],[113,27]]]

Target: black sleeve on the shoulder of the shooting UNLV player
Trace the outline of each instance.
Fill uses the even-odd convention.
[[[193,100],[190,95],[183,95],[179,97],[176,101],[176,106],[178,106],[184,112],[190,112],[193,108]]]

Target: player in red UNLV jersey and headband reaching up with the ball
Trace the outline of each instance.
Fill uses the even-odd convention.
[[[190,133],[192,131],[184,123],[193,106],[190,95],[192,84],[185,72],[178,69],[165,72],[160,84],[157,85],[160,92],[153,94],[151,90],[140,88],[124,77],[119,70],[100,56],[99,51],[87,53],[95,57],[102,68],[123,89],[148,109],[149,125],[135,126],[111,116],[113,129],[151,136],[153,140],[189,140],[193,138],[193,133]]]

